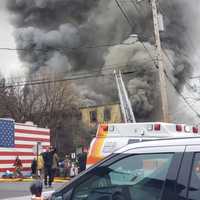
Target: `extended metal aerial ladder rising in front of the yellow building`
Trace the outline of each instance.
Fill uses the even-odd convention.
[[[122,79],[122,73],[120,70],[118,72],[116,72],[115,70],[114,75],[115,75],[115,80],[117,84],[118,96],[120,100],[120,106],[121,106],[124,122],[135,123],[136,122],[135,116],[133,114],[131,102],[128,98],[128,93],[124,85],[124,81]]]

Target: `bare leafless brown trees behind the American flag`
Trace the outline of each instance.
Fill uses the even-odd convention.
[[[51,129],[51,143],[63,154],[90,140],[80,119],[79,98],[70,81],[1,86],[0,115],[17,122],[33,121]]]

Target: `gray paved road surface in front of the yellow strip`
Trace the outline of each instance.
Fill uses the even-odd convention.
[[[30,195],[30,182],[27,183],[0,183],[0,199],[10,199],[14,197]],[[54,183],[53,188],[44,189],[44,191],[54,190],[60,187],[63,183]],[[23,200],[23,198],[21,198]]]

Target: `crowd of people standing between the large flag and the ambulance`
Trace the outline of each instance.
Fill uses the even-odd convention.
[[[50,146],[45,152],[41,153],[34,158],[31,164],[32,176],[44,179],[44,185],[51,187],[54,177],[59,169],[63,169],[62,175],[65,177],[74,177],[79,172],[85,170],[86,167],[86,153],[78,154],[76,158],[72,159],[69,155],[59,163],[59,157],[56,148]],[[19,156],[16,157],[14,162],[15,177],[22,177],[22,161]],[[60,174],[61,175],[61,174]]]

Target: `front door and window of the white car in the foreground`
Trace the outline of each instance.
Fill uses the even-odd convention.
[[[174,199],[173,186],[184,148],[165,146],[128,150],[89,170],[55,194],[53,199]]]

